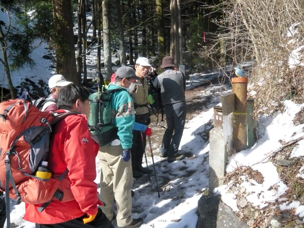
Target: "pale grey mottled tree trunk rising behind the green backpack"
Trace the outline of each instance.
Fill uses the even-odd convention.
[[[105,81],[110,81],[112,74],[112,57],[109,0],[102,0],[102,34],[103,55],[105,59]]]

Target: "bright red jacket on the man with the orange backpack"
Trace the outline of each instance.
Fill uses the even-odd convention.
[[[72,194],[75,199],[69,202],[53,200],[41,213],[37,210],[41,204],[26,204],[24,219],[32,223],[54,224],[85,213],[94,215],[98,201],[97,184],[94,182],[98,149],[98,143],[91,138],[85,115],[67,116],[57,123],[50,138],[48,166],[59,176],[69,170],[59,188],[64,188],[63,192]]]

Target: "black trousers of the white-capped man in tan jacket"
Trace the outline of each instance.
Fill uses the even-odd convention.
[[[151,122],[150,113],[135,116],[135,122],[149,125]],[[143,140],[141,140],[141,131],[133,130],[133,144],[131,148],[131,162],[133,170],[142,167],[146,142],[146,133],[143,132]]]

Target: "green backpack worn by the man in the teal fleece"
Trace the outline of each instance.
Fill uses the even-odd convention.
[[[112,94],[122,89],[111,89],[100,92],[100,99],[98,99],[98,92],[89,96],[92,101],[90,105],[90,116],[88,118],[89,130],[98,139],[99,145],[105,146],[113,140],[118,139],[117,128],[112,122]]]

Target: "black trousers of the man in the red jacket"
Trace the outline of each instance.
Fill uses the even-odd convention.
[[[56,224],[38,224],[36,223],[36,228],[114,228],[110,220],[102,213],[102,210],[98,208],[97,215],[92,222],[84,224],[82,219],[88,217],[86,214],[70,221],[64,223]]]

